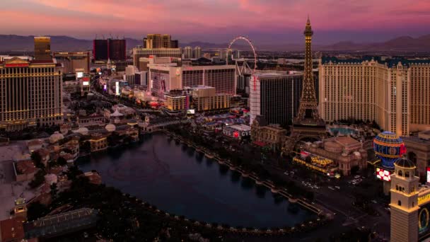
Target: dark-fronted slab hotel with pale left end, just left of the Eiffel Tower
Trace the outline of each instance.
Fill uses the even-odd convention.
[[[250,79],[250,124],[257,115],[267,124],[286,124],[296,117],[303,74],[257,72]]]

